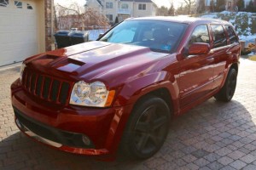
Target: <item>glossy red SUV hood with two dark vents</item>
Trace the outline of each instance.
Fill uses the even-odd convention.
[[[152,70],[155,61],[166,55],[140,46],[85,42],[26,59],[25,63],[50,76],[73,81],[109,81],[118,76],[132,77],[141,70]]]

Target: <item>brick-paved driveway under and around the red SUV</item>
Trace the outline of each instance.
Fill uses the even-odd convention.
[[[256,169],[256,62],[241,59],[230,103],[209,99],[172,120],[161,150],[146,161],[102,162],[53,150],[14,123],[9,86],[19,68],[0,71],[0,169]]]

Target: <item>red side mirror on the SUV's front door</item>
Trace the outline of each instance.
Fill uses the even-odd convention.
[[[210,52],[210,45],[208,43],[195,42],[192,43],[188,50],[188,55],[208,54]]]

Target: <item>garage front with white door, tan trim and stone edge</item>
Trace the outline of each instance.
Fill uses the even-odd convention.
[[[53,0],[0,0],[0,66],[51,49]]]

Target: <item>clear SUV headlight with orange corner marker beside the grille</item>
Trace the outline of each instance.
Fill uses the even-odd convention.
[[[70,104],[91,107],[108,107],[112,104],[115,91],[108,91],[103,82],[80,81],[73,86]]]

